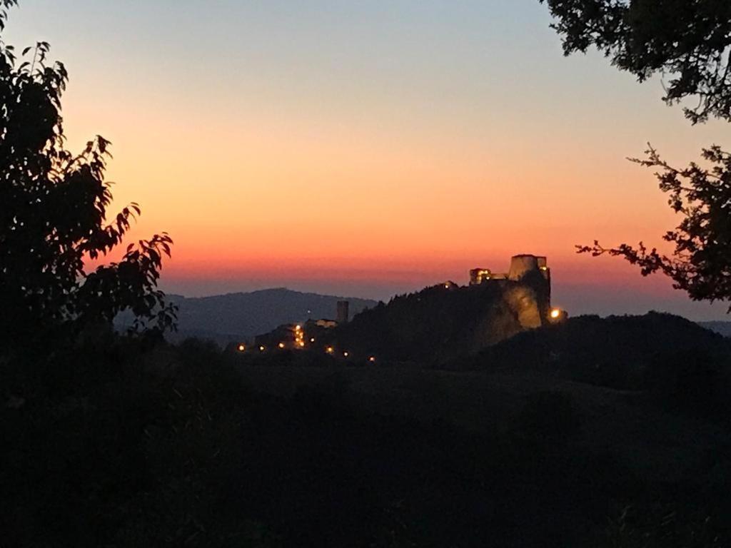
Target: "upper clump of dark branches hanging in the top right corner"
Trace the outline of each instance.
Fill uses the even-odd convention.
[[[664,101],[695,97],[693,122],[731,121],[731,2],[728,0],[540,0],[558,22],[564,53],[594,45],[640,82],[667,76]]]

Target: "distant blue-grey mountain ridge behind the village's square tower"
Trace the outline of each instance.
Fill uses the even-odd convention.
[[[289,322],[308,318],[335,318],[338,300],[350,302],[350,316],[373,308],[377,301],[292,291],[284,287],[212,297],[183,297],[170,294],[178,305],[178,335],[172,340],[195,336],[225,344],[246,340]],[[123,316],[119,324],[131,319]]]

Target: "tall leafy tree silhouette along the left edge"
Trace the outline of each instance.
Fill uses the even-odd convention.
[[[0,0],[0,31],[15,4]],[[47,62],[48,50],[39,42],[18,58],[0,39],[0,341],[109,323],[126,309],[136,328],[173,327],[175,309],[156,287],[162,256],[170,255],[167,234],[130,244],[119,262],[85,270],[86,258],[121,244],[140,208],[107,211],[107,140],[97,136],[79,154],[64,147],[67,72]]]

